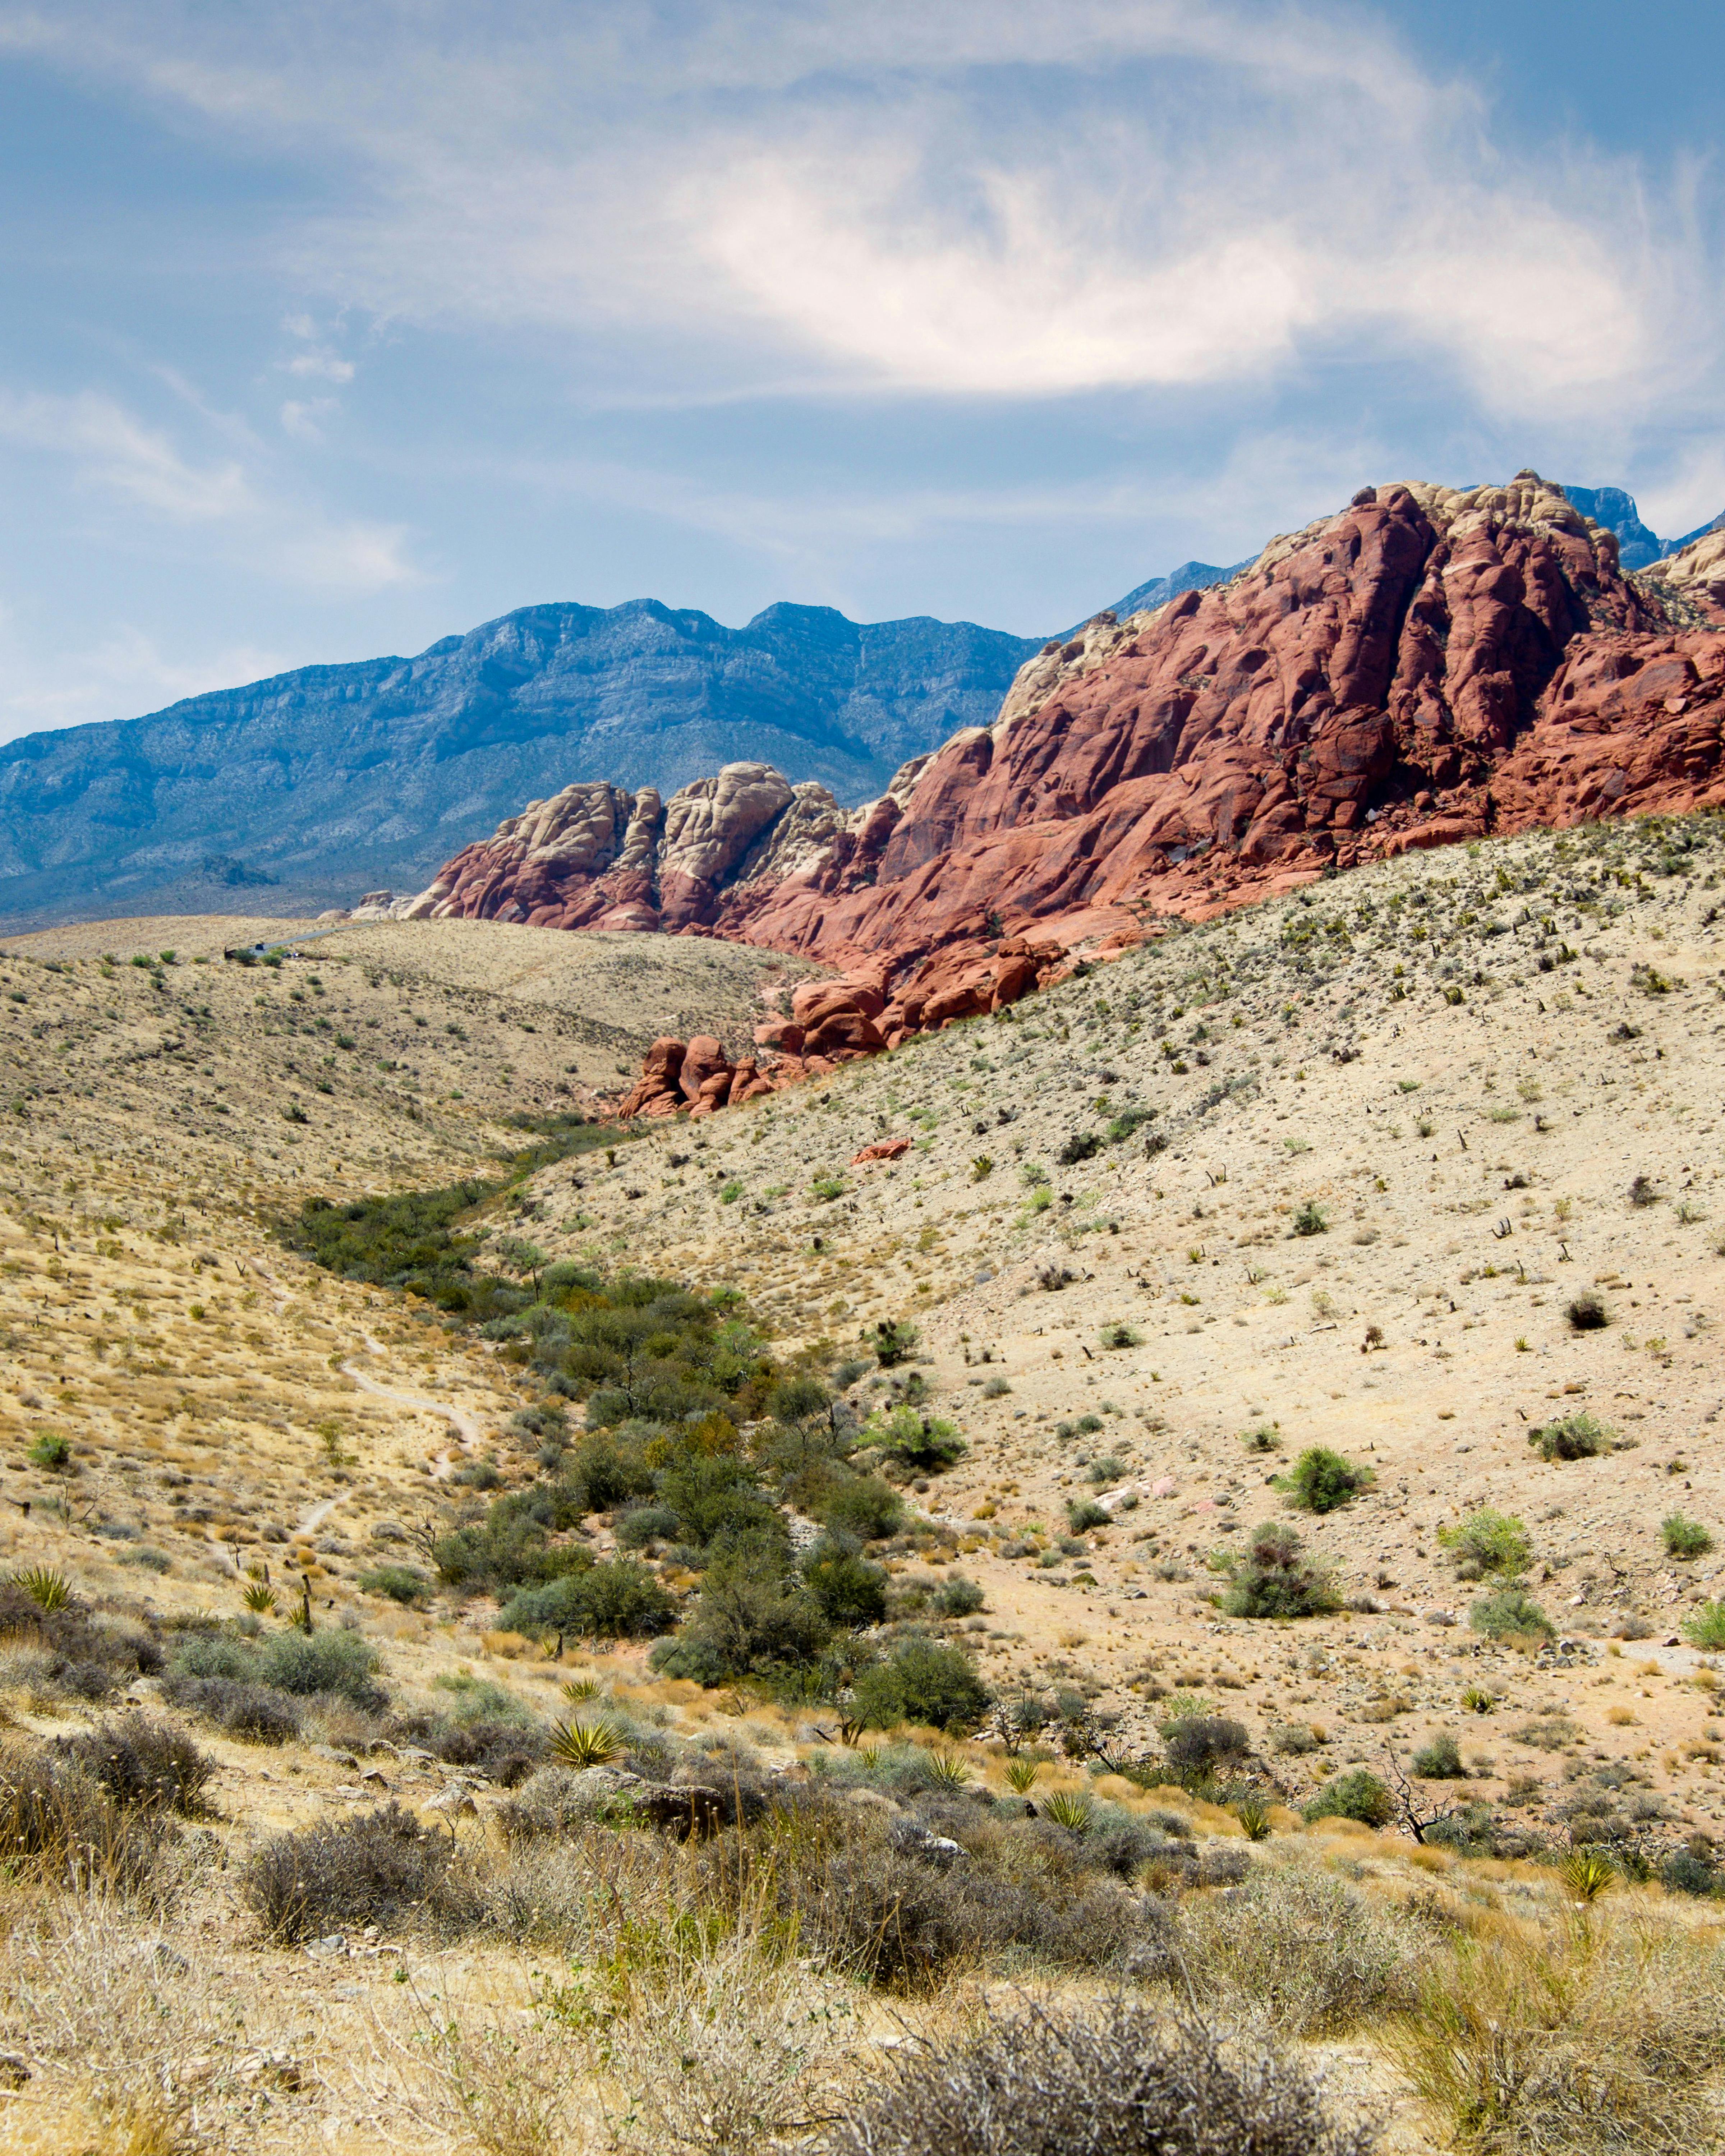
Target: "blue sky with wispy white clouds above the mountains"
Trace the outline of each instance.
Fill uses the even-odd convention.
[[[515,606],[1725,509],[1725,9],[0,0],[0,740]]]

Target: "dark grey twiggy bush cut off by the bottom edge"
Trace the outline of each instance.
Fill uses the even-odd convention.
[[[1317,2083],[1123,1996],[988,2003],[955,2035],[897,2050],[822,2156],[1369,2156]]]

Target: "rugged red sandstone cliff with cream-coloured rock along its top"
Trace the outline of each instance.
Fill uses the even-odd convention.
[[[718,934],[852,970],[891,1033],[990,1007],[1050,946],[1328,867],[1725,802],[1725,535],[1639,578],[1535,474],[1363,489],[1220,589],[1098,617],[990,729],[843,811],[770,765],[660,804],[535,802],[405,908]],[[1044,949],[1000,938],[1035,934]],[[882,968],[880,962],[888,964]],[[912,970],[921,968],[921,970]],[[951,998],[947,996],[947,1003]]]

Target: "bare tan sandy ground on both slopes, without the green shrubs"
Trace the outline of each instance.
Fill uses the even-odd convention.
[[[968,1440],[914,1492],[925,1524],[891,1563],[899,1589],[953,1572],[983,1587],[947,1630],[996,1690],[1070,1686],[1126,1753],[1156,1746],[1171,1692],[1199,1692],[1283,1792],[1257,1863],[1384,1906],[1438,1893],[1479,1936],[1561,1927],[1550,1867],[1302,1828],[1294,1807],[1352,1764],[1408,1770],[1449,1731],[1471,1779],[1414,1777],[1425,1811],[1484,1798],[1561,1841],[1589,1805],[1617,1807],[1667,1841],[1725,1839],[1719,1675],[1680,1632],[1721,1595],[1721,1557],[1660,1542],[1673,1511],[1725,1537],[1723,869],[1710,819],[1386,862],[1175,925],[817,1087],[619,1134],[615,1162],[543,1169],[487,1225],[735,1283],[785,1352],[860,1356],[875,1322],[914,1322],[921,1358],[852,1397],[910,1376]],[[589,1106],[662,1033],[735,1052],[802,970],[712,940],[489,923],[351,925],[280,966],[220,955],[302,929],[106,923],[0,959],[0,1567],[54,1565],[106,1608],[164,1617],[237,1615],[265,1565],[276,1583],[308,1570],[319,1623],[354,1617],[399,1701],[479,1675],[556,1716],[580,1662],[630,1712],[798,1772],[822,1751],[817,1712],[653,1684],[638,1651],[558,1667],[492,1630],[483,1600],[397,1611],[360,1591],[380,1554],[448,1518],[466,1453],[530,1477],[509,1416],[537,1395],[492,1343],[332,1281],[272,1222],[306,1194],[502,1179],[530,1141],[511,1115]],[[175,962],[132,964],[162,951]],[[1123,1130],[1134,1108],[1154,1112]],[[1061,1164],[1087,1136],[1095,1151]],[[854,1164],[891,1138],[910,1151]],[[1298,1235],[1309,1203],[1324,1225]],[[1598,1330],[1565,1317],[1583,1289],[1606,1304]],[[1572,1410],[1617,1449],[1546,1464],[1529,1432]],[[1266,1427],[1276,1449],[1251,1451]],[[43,1434],[71,1442],[69,1475],[30,1462]],[[1324,1518],[1289,1511],[1266,1477],[1309,1445],[1376,1485]],[[1085,1498],[1110,1524],[1067,1533]],[[1527,1524],[1529,1591],[1565,1645],[1471,1628],[1486,1585],[1438,1537],[1479,1505]],[[1208,1561],[1264,1518],[1305,1535],[1350,1608],[1220,1615]],[[4,1641],[0,1708],[9,1738],[91,1720]],[[464,1846],[494,1833],[498,1792],[474,1789],[461,1820],[466,1777],[380,1766],[339,1716],[280,1749],[188,1727],[222,1768],[213,1861],[168,1915],[140,1930],[0,1887],[0,2048],[28,2072],[0,2098],[0,2150],[502,2147],[451,2093],[431,2031],[539,2029],[541,1962],[436,1938],[276,1949],[231,1887],[265,1833],[373,1800],[367,1774]],[[966,1753],[1005,1787],[998,1744]],[[1041,1789],[1059,1787],[1184,1807],[1205,1846],[1244,1848],[1231,1813],[1179,1792],[1052,1759]],[[1688,1930],[1716,1908],[1656,1884],[1622,1904]],[[168,1966],[157,1949],[183,1981],[136,1975]],[[903,2012],[942,2027],[964,1996]],[[860,2001],[856,2029],[891,2037],[893,2012]],[[1386,2035],[1311,2055],[1350,2102],[1386,2109],[1384,2152],[1453,2145]],[[140,2074],[216,2091],[203,2111],[175,2098],[201,2143],[125,2139]]]

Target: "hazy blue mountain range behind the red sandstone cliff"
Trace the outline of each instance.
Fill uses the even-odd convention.
[[[1626,565],[1671,552],[1622,489],[1572,498],[1619,533]],[[1123,621],[1240,567],[1184,563],[1104,614]],[[524,800],[578,780],[671,793],[748,761],[862,802],[906,761],[992,724],[1048,649],[968,621],[856,623],[824,606],[770,606],[731,630],[656,599],[550,604],[416,658],[302,666],[26,735],[0,746],[0,921],[207,912],[246,888],[302,912],[369,884],[414,888]]]

